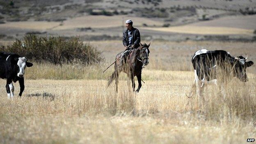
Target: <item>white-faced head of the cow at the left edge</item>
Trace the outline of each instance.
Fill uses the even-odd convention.
[[[18,65],[18,69],[17,69],[18,77],[23,77],[26,66],[27,67],[33,66],[31,62],[27,62],[27,59],[25,57],[16,57],[14,60],[17,62],[17,65]]]

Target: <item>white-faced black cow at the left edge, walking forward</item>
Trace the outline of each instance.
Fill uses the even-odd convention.
[[[14,53],[0,53],[0,78],[7,80],[6,91],[8,98],[14,97],[14,85],[12,82],[19,82],[20,93],[24,91],[24,73],[25,68],[33,66],[32,63],[27,62],[25,57],[21,57]]]

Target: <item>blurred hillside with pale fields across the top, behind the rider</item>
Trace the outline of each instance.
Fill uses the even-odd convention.
[[[255,41],[255,14],[255,0],[0,0],[0,39],[120,40],[132,19],[146,41]]]

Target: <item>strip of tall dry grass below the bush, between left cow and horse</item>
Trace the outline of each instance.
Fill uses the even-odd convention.
[[[53,80],[71,80],[71,79],[106,79],[110,71],[102,73],[106,64],[84,65],[80,63],[73,64],[52,64],[50,62],[34,62],[33,66],[26,69],[25,77],[27,79],[53,79]]]

